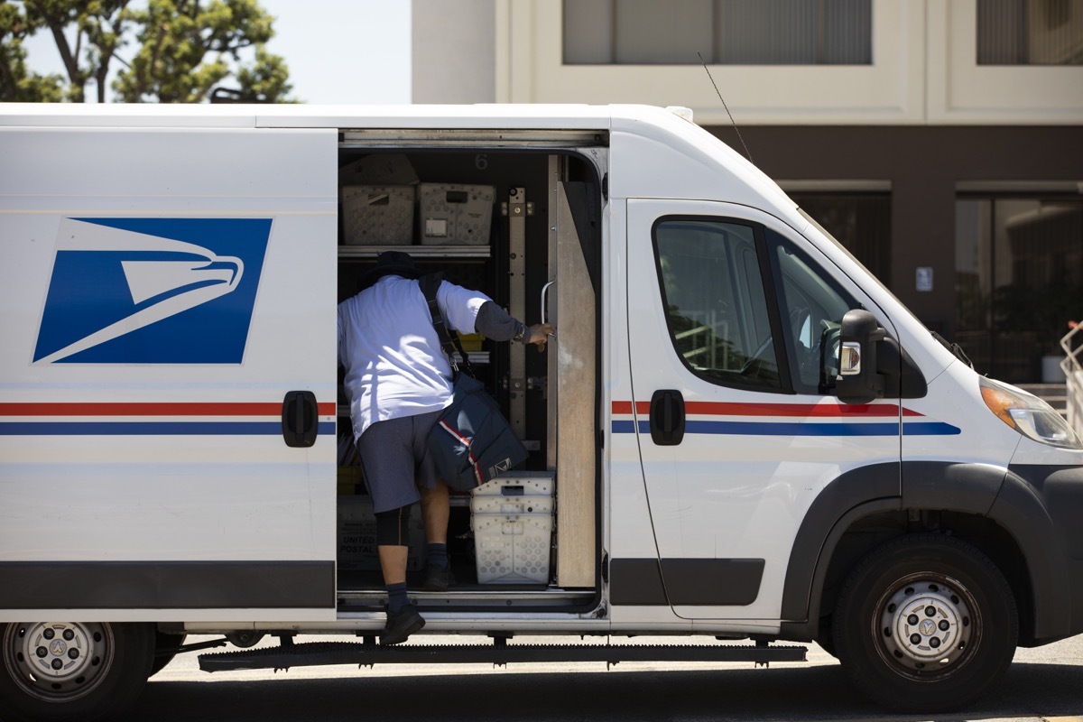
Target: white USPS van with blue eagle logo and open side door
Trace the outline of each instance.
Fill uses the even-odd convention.
[[[108,717],[208,644],[223,671],[815,641],[939,712],[1083,632],[1080,439],[689,113],[4,104],[0,158],[5,719]],[[446,591],[413,530],[405,646],[376,643],[336,353],[389,249],[557,328],[467,339],[530,458],[453,498]],[[579,643],[645,634],[712,643]]]

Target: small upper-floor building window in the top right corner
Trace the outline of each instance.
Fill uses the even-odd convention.
[[[978,65],[1083,65],[1083,0],[978,0]]]

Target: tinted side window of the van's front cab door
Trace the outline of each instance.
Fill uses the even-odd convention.
[[[713,383],[824,394],[837,375],[851,296],[792,241],[733,220],[671,218],[654,227],[674,350]]]

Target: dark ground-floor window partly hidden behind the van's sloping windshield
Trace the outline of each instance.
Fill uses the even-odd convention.
[[[891,196],[798,193],[790,197],[885,285],[891,281]]]

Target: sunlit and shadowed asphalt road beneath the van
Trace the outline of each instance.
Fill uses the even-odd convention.
[[[464,641],[415,639],[433,644]],[[127,719],[627,722],[929,718],[884,713],[851,692],[838,664],[812,645],[809,661],[775,664],[769,669],[745,664],[622,662],[606,670],[604,664],[585,662],[507,668],[466,665],[454,669],[335,666],[277,673],[208,673],[199,671],[196,655],[190,654],[151,679]],[[1019,649],[1002,683],[979,704],[936,719],[1083,722],[1083,638]]]

